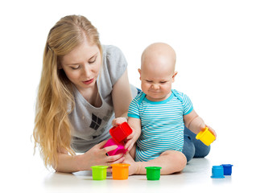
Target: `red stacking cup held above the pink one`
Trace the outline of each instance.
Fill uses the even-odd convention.
[[[110,135],[118,143],[122,142],[132,132],[133,130],[130,128],[127,122],[123,122],[121,125],[109,129]]]

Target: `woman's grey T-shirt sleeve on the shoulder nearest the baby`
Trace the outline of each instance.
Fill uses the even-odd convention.
[[[113,86],[126,71],[127,61],[122,51],[114,46],[106,46],[105,61]]]

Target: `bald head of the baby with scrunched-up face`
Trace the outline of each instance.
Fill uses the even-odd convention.
[[[140,80],[142,91],[150,101],[163,101],[171,95],[176,55],[167,43],[153,43],[142,53]]]

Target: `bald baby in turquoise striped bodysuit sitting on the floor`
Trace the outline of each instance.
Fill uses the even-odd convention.
[[[162,166],[161,175],[181,171],[187,163],[182,154],[184,125],[193,133],[209,126],[197,115],[188,96],[171,89],[177,75],[172,47],[151,44],[142,53],[138,72],[142,92],[128,111],[128,124],[134,132],[127,138],[126,148],[136,161],[126,159],[130,175],[146,174],[145,166]],[[216,136],[211,127],[209,130]]]

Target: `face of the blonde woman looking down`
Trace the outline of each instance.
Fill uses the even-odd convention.
[[[68,79],[79,91],[93,88],[101,69],[101,51],[85,40],[60,61]]]

